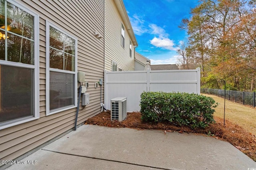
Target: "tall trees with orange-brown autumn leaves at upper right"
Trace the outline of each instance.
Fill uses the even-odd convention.
[[[188,32],[186,55],[200,65],[203,86],[225,79],[235,89],[254,89],[255,7],[255,0],[200,0],[192,17],[182,20],[180,28]]]

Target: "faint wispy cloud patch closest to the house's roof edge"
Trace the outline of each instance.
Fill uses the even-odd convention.
[[[134,34],[141,36],[142,34],[148,32],[148,29],[146,29],[144,26],[145,21],[137,14],[134,14],[132,17],[130,17],[130,22],[132,24]]]

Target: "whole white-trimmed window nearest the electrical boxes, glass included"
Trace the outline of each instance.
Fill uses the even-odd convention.
[[[46,115],[77,106],[77,38],[46,21]]]

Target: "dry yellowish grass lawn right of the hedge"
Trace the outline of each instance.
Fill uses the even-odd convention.
[[[207,97],[212,97],[217,103],[220,103],[218,107],[215,108],[214,116],[224,118],[224,98],[202,94]],[[233,123],[238,124],[243,127],[248,132],[256,135],[256,108],[251,108],[249,106],[244,106],[233,101],[226,99],[225,107],[225,120],[229,120]]]

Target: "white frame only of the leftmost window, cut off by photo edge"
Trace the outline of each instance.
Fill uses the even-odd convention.
[[[33,92],[33,94],[34,94],[34,116],[29,117],[27,119],[24,119],[24,118],[15,119],[13,121],[10,121],[10,123],[8,123],[6,125],[2,125],[2,126],[0,125],[0,130],[4,129],[4,128],[15,126],[15,125],[19,125],[22,123],[26,123],[29,121],[33,121],[33,120],[39,119],[39,117],[40,117],[40,113],[39,113],[39,100],[40,100],[39,99],[39,15],[14,0],[6,0],[6,2],[9,2],[10,4],[13,4],[14,6],[24,10],[28,14],[34,16],[34,65],[25,64],[25,63],[16,63],[13,61],[0,60],[1,65],[9,65],[9,66],[14,66],[14,67],[34,69],[34,92]]]

